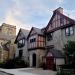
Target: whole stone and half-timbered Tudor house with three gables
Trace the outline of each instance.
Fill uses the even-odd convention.
[[[28,61],[30,67],[39,67],[46,62],[52,69],[54,65],[64,64],[63,47],[68,41],[75,41],[75,21],[63,14],[63,8],[53,11],[45,28],[32,27],[30,31],[20,29],[15,43],[16,57]]]

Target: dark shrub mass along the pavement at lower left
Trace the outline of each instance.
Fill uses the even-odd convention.
[[[1,68],[13,69],[13,68],[26,68],[28,63],[20,58],[10,59],[6,62],[0,63]]]

